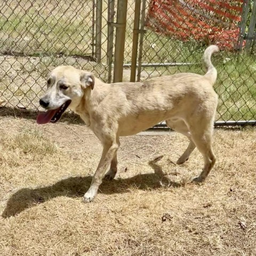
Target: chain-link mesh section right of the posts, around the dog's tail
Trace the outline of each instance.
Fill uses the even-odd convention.
[[[214,85],[219,95],[215,121],[255,121],[255,6],[256,1],[250,0],[147,0],[145,27],[140,28],[146,29],[146,33],[141,34],[138,80],[178,72],[204,74],[203,52],[209,44],[217,44],[221,52],[212,57],[218,70]],[[246,7],[249,14],[244,17]],[[251,23],[254,39],[246,38]],[[253,41],[249,51],[245,49],[247,39]]]

